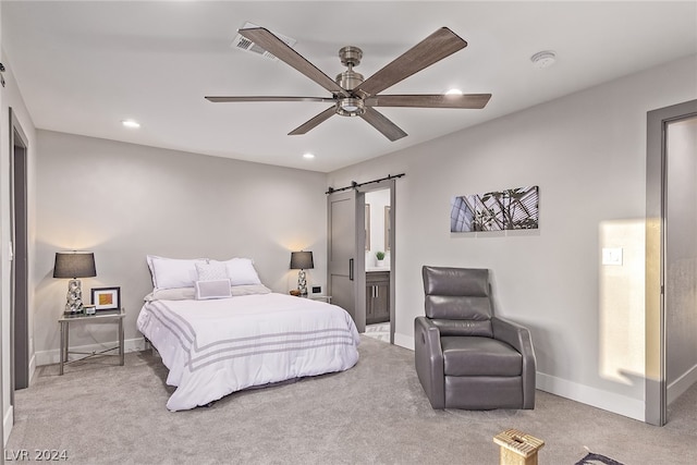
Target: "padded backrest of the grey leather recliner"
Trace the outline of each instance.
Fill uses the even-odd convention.
[[[425,266],[421,273],[426,317],[441,335],[493,336],[489,270]]]

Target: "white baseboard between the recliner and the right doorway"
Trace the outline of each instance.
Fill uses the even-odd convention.
[[[537,389],[617,415],[645,421],[644,401],[537,372]]]

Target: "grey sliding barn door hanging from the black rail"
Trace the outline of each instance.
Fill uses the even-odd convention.
[[[365,332],[366,327],[363,204],[363,194],[355,189],[329,194],[327,197],[327,283],[331,303],[348,311],[358,332]]]

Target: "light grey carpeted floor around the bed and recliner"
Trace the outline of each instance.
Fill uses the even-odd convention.
[[[516,428],[545,440],[540,465],[588,451],[627,465],[697,463],[697,388],[663,428],[537,393],[535,411],[433,411],[412,351],[363,338],[348,371],[240,392],[211,407],[168,412],[172,388],[149,352],[126,366],[41,367],[15,396],[8,452],[65,451],[74,464],[499,463],[492,438]],[[7,456],[7,455],[5,455]]]

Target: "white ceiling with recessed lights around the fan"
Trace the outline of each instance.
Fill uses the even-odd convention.
[[[2,1],[2,47],[38,129],[329,172],[697,53],[697,1]],[[468,47],[383,94],[460,87],[484,110],[380,111],[398,142],[317,102],[211,103],[206,95],[330,97],[281,61],[231,48],[252,22],[297,40],[330,77],[338,50],[360,47],[366,78],[448,26]],[[557,63],[530,57],[554,50]],[[660,86],[661,83],[656,83]],[[601,109],[599,109],[601,110]],[[121,120],[135,119],[139,130]],[[310,151],[314,160],[302,155]]]

